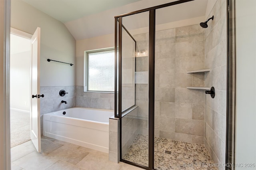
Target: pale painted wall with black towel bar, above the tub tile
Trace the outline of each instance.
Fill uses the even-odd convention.
[[[47,61],[76,62],[76,41],[63,23],[22,0],[12,0],[11,27],[30,34],[41,28],[40,86],[75,85],[76,65]]]

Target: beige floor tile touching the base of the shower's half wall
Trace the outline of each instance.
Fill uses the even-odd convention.
[[[123,164],[110,162],[106,156],[90,153],[76,166],[86,170],[120,170]]]

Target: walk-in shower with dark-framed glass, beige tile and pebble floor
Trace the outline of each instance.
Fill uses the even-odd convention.
[[[158,170],[225,163],[225,10],[221,0],[178,0],[115,17],[122,162]],[[205,94],[212,86],[214,99]]]

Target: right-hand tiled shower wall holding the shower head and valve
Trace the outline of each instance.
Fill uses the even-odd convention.
[[[217,0],[212,12],[214,20],[205,31],[205,84],[214,86],[215,98],[206,95],[204,144],[215,163],[225,163],[226,153],[226,81],[227,35],[226,0]]]

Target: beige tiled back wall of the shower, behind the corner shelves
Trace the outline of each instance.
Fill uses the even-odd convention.
[[[135,35],[136,49],[148,47],[148,34]],[[204,30],[192,25],[156,32],[155,136],[204,143]],[[136,71],[148,71],[148,57],[136,57]],[[148,133],[148,84],[136,84],[138,132]]]

